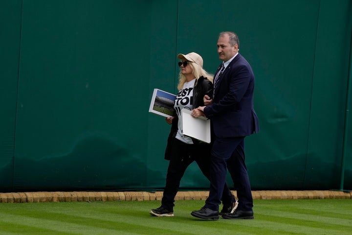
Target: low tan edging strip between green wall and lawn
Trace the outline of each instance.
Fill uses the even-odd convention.
[[[232,191],[234,195],[236,191]],[[179,191],[175,200],[206,200],[209,191]],[[93,202],[93,201],[149,201],[161,200],[162,191],[115,192],[115,191],[73,191],[73,192],[0,192],[0,203],[31,202]],[[260,190],[252,191],[253,199],[352,199],[352,192],[332,190]]]

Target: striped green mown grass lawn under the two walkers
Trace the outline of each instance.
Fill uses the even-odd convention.
[[[160,201],[3,203],[0,235],[351,235],[351,199],[255,200],[254,220],[201,220],[204,201],[176,201],[174,217],[154,217]]]

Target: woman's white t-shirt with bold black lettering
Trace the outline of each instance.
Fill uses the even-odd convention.
[[[185,142],[185,143],[193,143],[192,139],[188,136],[184,136],[181,134],[181,129],[182,129],[182,109],[188,109],[192,110],[193,109],[193,88],[194,84],[196,82],[196,79],[193,79],[190,82],[185,82],[183,84],[182,90],[180,90],[177,93],[176,101],[174,108],[176,110],[176,114],[178,117],[178,130],[176,134],[176,139]]]

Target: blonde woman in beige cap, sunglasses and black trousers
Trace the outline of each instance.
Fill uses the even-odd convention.
[[[170,160],[166,175],[166,185],[161,200],[161,206],[150,211],[153,216],[174,216],[174,202],[181,178],[187,167],[196,161],[200,170],[210,180],[211,144],[197,141],[180,132],[180,115],[182,109],[193,110],[204,106],[203,97],[213,95],[213,75],[203,69],[203,59],[195,52],[178,54],[181,60],[178,93],[175,100],[175,115],[166,118],[172,124],[165,150],[165,159]],[[220,213],[233,212],[237,207],[235,196],[225,184],[222,193],[223,208]]]

